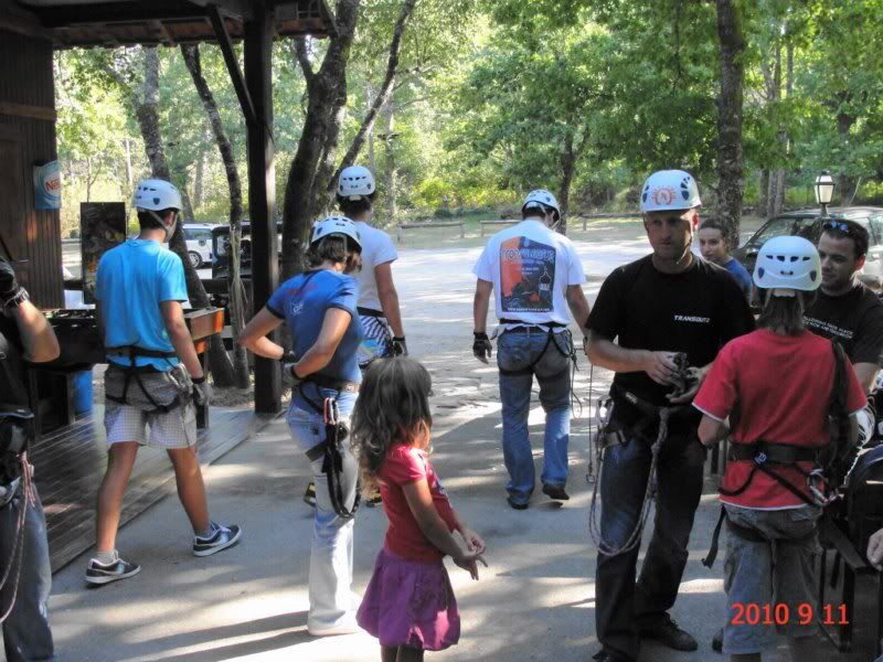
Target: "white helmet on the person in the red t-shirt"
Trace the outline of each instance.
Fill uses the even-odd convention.
[[[819,252],[804,237],[773,237],[757,254],[754,284],[769,290],[816,290],[821,285]]]

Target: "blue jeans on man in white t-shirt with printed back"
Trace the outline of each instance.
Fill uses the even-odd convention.
[[[506,331],[497,341],[500,402],[503,406],[503,459],[509,471],[506,490],[513,503],[526,503],[533,492],[533,451],[528,414],[534,375],[540,383],[540,404],[545,412],[540,480],[543,484],[562,488],[567,482],[572,350],[570,333],[555,333],[550,343],[549,333],[536,327]]]

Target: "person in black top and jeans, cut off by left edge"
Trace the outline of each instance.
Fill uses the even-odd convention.
[[[52,588],[46,522],[36,487],[29,480],[33,468],[26,461],[26,440],[32,414],[24,392],[22,359],[40,363],[57,355],[58,341],[52,327],[28,300],[10,264],[0,257],[0,578],[7,578],[9,572],[0,590],[0,616],[12,606],[3,621],[9,662],[54,659],[46,609]],[[13,560],[22,510],[23,549],[17,572]]]

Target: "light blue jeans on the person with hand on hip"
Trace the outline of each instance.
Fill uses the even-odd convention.
[[[326,397],[337,397],[341,419],[349,419],[355,406],[355,394],[318,388],[305,384],[306,395],[320,407]],[[288,408],[288,429],[304,451],[325,441],[325,423],[295,389]],[[348,509],[355,500],[359,465],[350,452],[350,440],[340,445],[343,459],[341,483],[343,501]],[[312,480],[316,482],[316,516],[310,547],[309,600],[307,616],[309,630],[326,630],[345,627],[355,622],[352,596],[352,554],[354,519],[337,514],[328,491],[328,477],[322,471],[322,458],[310,462]]]

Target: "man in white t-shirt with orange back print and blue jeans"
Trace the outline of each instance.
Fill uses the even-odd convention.
[[[570,312],[583,335],[588,301],[586,280],[573,243],[554,231],[561,222],[555,196],[532,191],[521,209],[522,222],[493,235],[472,273],[478,276],[475,297],[472,353],[488,362],[491,344],[486,332],[490,295],[494,293],[502,333],[497,341],[500,401],[503,418],[503,458],[509,471],[509,505],[528,508],[534,488],[533,453],[528,434],[531,386],[540,384],[545,412],[543,492],[570,499],[567,445],[571,431],[571,362],[573,338]]]

